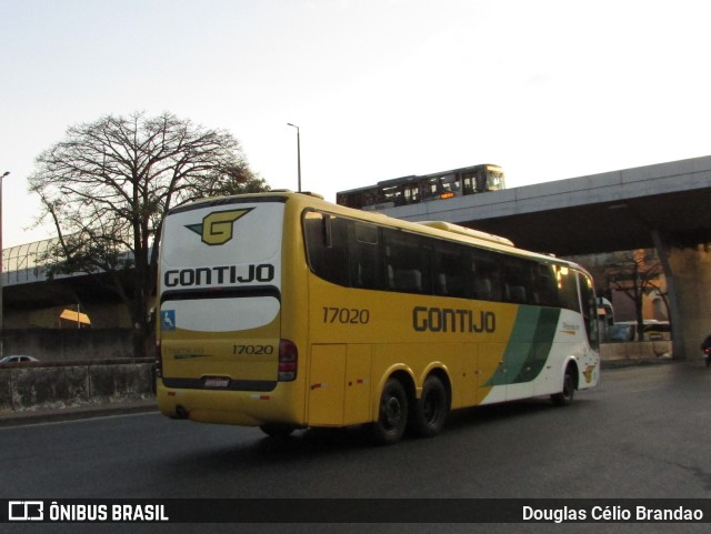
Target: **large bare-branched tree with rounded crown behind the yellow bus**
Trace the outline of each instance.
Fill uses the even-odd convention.
[[[268,190],[238,140],[171,113],[108,115],[70,127],[30,177],[58,233],[50,274],[106,273],[129,306],[136,355],[146,355],[149,305],[166,212],[204,197]],[[126,273],[132,283],[127,284]]]

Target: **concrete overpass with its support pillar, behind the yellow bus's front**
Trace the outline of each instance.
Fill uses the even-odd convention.
[[[382,210],[439,220],[557,255],[655,248],[664,266],[674,355],[711,332],[711,157]]]

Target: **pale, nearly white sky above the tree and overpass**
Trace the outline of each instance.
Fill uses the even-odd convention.
[[[0,0],[3,248],[69,125],[169,111],[274,189],[497,163],[509,188],[711,154],[711,2]]]

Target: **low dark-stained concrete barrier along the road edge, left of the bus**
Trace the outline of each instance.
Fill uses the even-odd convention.
[[[58,409],[152,397],[152,361],[0,364],[3,412]]]

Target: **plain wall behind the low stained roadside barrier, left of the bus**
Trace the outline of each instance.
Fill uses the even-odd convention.
[[[41,361],[132,357],[130,329],[6,330],[3,354],[27,354]],[[146,354],[152,357],[152,354]]]

